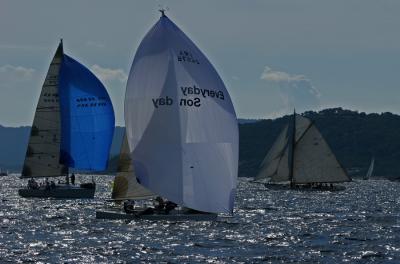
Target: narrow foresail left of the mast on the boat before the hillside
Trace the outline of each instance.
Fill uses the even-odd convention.
[[[265,156],[264,160],[261,163],[260,171],[255,177],[255,180],[272,178],[273,175],[278,172],[279,163],[282,162],[282,157],[284,155],[285,148],[287,147],[287,130],[288,125],[286,125],[281,131],[274,144],[272,145],[270,151]]]

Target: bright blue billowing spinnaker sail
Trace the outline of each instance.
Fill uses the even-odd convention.
[[[115,127],[107,90],[85,66],[64,54],[59,75],[60,162],[71,168],[107,168]]]

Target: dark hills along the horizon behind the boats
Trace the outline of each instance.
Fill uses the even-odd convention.
[[[306,112],[320,129],[339,162],[353,175],[365,174],[375,156],[375,175],[400,178],[400,116],[365,114],[341,108]],[[289,116],[274,120],[240,120],[239,176],[257,174],[259,164]],[[0,167],[19,171],[30,128],[0,126]],[[117,127],[111,148],[110,170],[116,168],[124,134]]]

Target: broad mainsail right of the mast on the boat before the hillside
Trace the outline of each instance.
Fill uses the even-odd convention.
[[[293,182],[350,181],[315,125],[311,125],[294,150]]]

